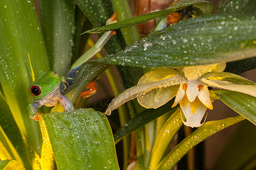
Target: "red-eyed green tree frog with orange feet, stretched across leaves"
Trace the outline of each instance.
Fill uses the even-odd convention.
[[[107,20],[106,24],[111,24],[118,22],[117,18],[118,13],[115,12],[114,15]],[[55,106],[58,101],[63,106],[65,111],[73,109],[73,104],[69,101],[68,97],[64,94],[65,90],[73,84],[73,80],[76,76],[76,71],[79,69],[80,65],[88,59],[92,58],[94,54],[99,52],[101,48],[106,44],[112,35],[115,35],[114,31],[105,32],[96,44],[85,52],[77,61],[72,65],[71,71],[69,71],[68,77],[59,76],[59,74],[54,71],[47,71],[38,76],[34,82],[31,83],[29,87],[29,94],[34,101],[27,107],[27,114],[30,118],[38,121],[39,114],[37,108],[46,105],[47,107]],[[88,91],[82,92],[80,96],[82,98],[89,97],[96,93],[97,85],[94,81],[90,82],[86,88],[89,88]]]

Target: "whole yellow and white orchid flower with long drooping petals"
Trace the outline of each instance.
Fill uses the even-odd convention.
[[[201,126],[208,109],[213,109],[208,87],[241,92],[256,97],[256,83],[232,73],[225,73],[226,63],[156,69],[144,74],[138,85],[131,87],[109,104],[105,114],[137,97],[145,108],[159,108],[175,96],[172,107],[180,104],[185,125]],[[204,120],[205,121],[205,120]]]

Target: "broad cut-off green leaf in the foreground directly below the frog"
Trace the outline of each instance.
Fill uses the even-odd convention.
[[[58,169],[119,169],[112,131],[93,109],[44,114]]]

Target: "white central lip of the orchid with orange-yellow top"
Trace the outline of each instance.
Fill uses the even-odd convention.
[[[193,102],[190,102],[187,96],[184,96],[180,101],[180,107],[186,117],[186,121],[184,122],[186,126],[195,128],[202,125],[201,120],[204,117],[207,107],[201,103],[198,97]]]

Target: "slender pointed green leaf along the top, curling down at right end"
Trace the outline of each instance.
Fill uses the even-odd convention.
[[[140,15],[140,16],[135,16],[134,18],[122,20],[120,22],[106,25],[104,27],[90,29],[89,31],[85,31],[84,33],[100,33],[100,32],[106,32],[106,31],[110,31],[110,30],[130,27],[132,25],[143,23],[148,20],[158,18],[160,16],[167,15],[167,14],[170,14],[175,11],[179,11],[179,10],[181,10],[185,7],[191,6],[191,5],[203,6],[204,8],[202,10],[204,10],[205,14],[210,14],[210,12],[212,12],[212,4],[207,1],[204,1],[204,0],[180,0],[179,2],[176,2],[174,5],[168,7],[166,10],[151,12],[151,13]]]

